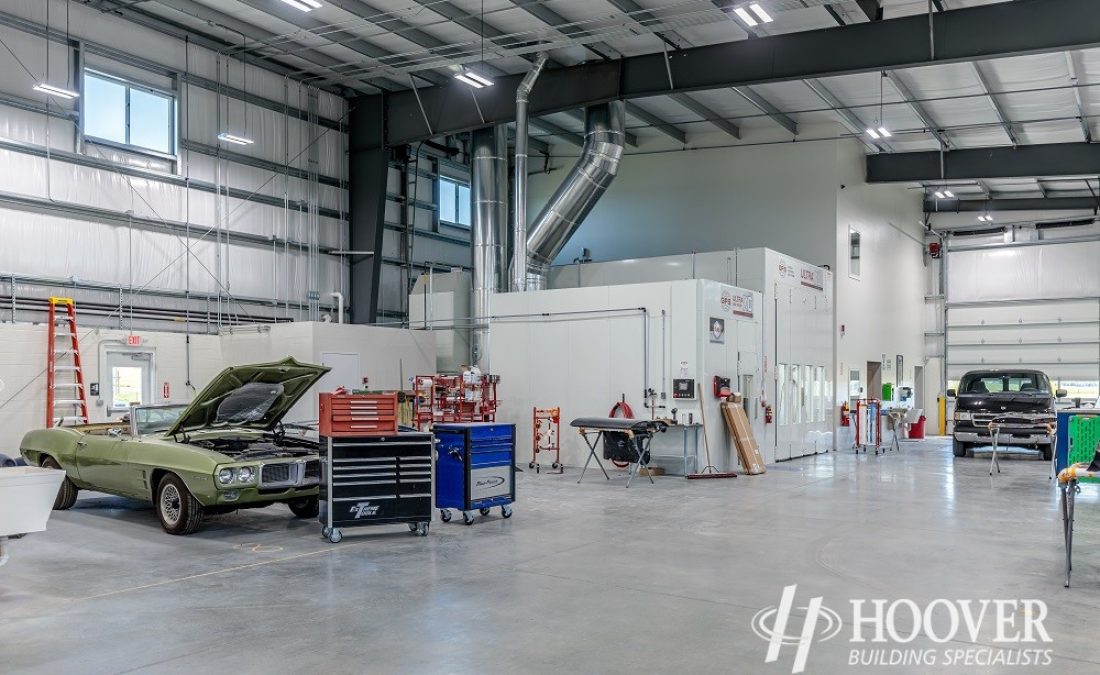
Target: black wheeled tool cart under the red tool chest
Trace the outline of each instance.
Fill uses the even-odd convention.
[[[428,534],[431,521],[431,433],[321,436],[321,536],[343,528],[408,523]]]

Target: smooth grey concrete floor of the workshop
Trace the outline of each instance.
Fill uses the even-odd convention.
[[[515,517],[367,528],[340,544],[283,507],[164,534],[148,507],[85,495],[0,569],[4,673],[791,673],[750,629],[798,584],[846,626],[806,673],[1096,673],[1100,509],[1078,499],[1063,588],[1048,465],[955,460],[943,440],[765,476],[657,485],[525,473]],[[854,598],[1038,598],[1046,667],[849,667]],[[796,615],[801,613],[796,610]],[[792,618],[787,632],[802,621]],[[992,630],[980,645],[993,645]],[[899,645],[886,645],[886,648]],[[968,639],[908,648],[966,649]]]

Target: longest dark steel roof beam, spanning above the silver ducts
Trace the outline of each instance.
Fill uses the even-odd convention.
[[[255,2],[256,0],[249,0]],[[630,56],[606,63],[556,68],[531,96],[531,112],[544,114],[614,99],[683,93],[791,81],[850,73],[963,63],[1022,54],[1062,53],[1100,46],[1100,2],[1094,0],[1015,0],[847,26],[788,33],[691,47],[664,54]],[[990,30],[997,26],[997,30]],[[671,78],[670,78],[671,74]],[[512,121],[520,76],[497,80],[479,97],[484,123]],[[671,80],[671,81],[670,81]],[[450,87],[419,91],[432,130],[453,133],[483,124],[469,101]],[[388,142],[407,143],[426,129],[411,92],[386,96]]]

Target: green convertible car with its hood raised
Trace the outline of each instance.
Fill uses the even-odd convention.
[[[284,502],[318,511],[317,441],[282,420],[329,368],[286,358],[226,368],[187,406],[134,406],[129,421],[23,436],[28,463],[68,474],[54,509],[81,489],[152,501],[164,530],[190,534],[204,513]]]

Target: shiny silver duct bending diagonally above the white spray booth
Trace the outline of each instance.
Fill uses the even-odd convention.
[[[528,290],[546,286],[546,276],[565,243],[618,174],[625,141],[626,104],[612,101],[584,111],[584,146],[573,169],[531,223],[527,236]],[[520,204],[516,204],[517,210]]]

